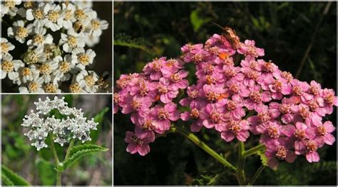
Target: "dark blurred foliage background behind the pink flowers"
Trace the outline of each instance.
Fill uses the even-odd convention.
[[[299,79],[316,80],[337,92],[337,2],[327,14],[327,2],[114,2],[114,80],[140,72],[155,57],[175,58],[187,43],[204,43],[222,30],[235,29],[241,41],[253,39],[265,49],[263,59]],[[317,28],[317,33],[314,32]],[[313,38],[313,39],[312,39]],[[307,48],[312,49],[300,67]],[[189,81],[194,71],[190,70]],[[336,109],[327,120],[336,124]],[[114,183],[116,185],[236,185],[235,176],[178,134],[158,138],[147,156],[130,155],[123,141],[133,131],[129,116],[117,113],[114,121]],[[237,144],[225,143],[217,133],[197,133],[209,146],[236,162]],[[336,136],[336,135],[335,135]],[[337,137],[337,136],[336,136]],[[250,137],[246,148],[257,144]],[[337,144],[319,150],[321,161],[307,163],[299,156],[277,171],[265,168],[256,185],[336,185]],[[260,166],[259,156],[246,161],[247,177]]]

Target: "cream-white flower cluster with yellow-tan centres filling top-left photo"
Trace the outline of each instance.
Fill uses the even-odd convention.
[[[99,76],[88,70],[96,57],[88,47],[98,44],[108,22],[91,6],[81,1],[2,2],[1,25],[8,37],[0,39],[1,79],[8,77],[24,93],[58,93],[68,80],[63,92],[103,91]],[[19,45],[24,54],[15,50]]]

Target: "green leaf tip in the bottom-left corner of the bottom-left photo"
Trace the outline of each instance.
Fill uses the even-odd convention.
[[[6,166],[1,166],[2,184],[6,186],[31,186],[24,178],[11,171]]]

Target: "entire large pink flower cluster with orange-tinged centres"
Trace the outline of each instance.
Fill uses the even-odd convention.
[[[135,124],[135,132],[126,133],[128,152],[149,153],[155,134],[165,133],[178,119],[191,123],[192,132],[215,129],[226,142],[257,136],[271,168],[283,160],[292,163],[297,155],[317,162],[318,148],[334,143],[335,128],[324,121],[338,105],[334,90],[294,79],[272,61],[260,59],[265,51],[255,41],[214,34],[205,44],[181,49],[180,59],[154,59],[143,73],[116,81],[114,112],[131,113]],[[242,57],[238,65],[235,57]],[[185,80],[185,63],[195,64],[195,84]],[[180,89],[187,95],[177,100]],[[173,101],[188,111],[180,112]]]

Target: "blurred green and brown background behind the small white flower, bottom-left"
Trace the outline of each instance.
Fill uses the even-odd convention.
[[[34,102],[47,95],[2,95],[1,118],[1,162],[2,165],[25,178],[32,185],[53,186],[56,171],[51,150],[42,148],[36,151],[29,138],[24,136],[26,128],[21,126],[22,119],[31,110]],[[54,95],[48,95],[53,98]],[[68,106],[82,108],[87,118],[98,121],[97,131],[91,131],[91,141],[109,151],[94,153],[81,158],[71,168],[63,172],[63,185],[110,186],[112,184],[112,118],[110,95],[63,95]],[[58,96],[61,97],[61,96]],[[49,141],[46,141],[49,145]],[[81,141],[75,141],[75,145]],[[68,144],[61,147],[55,143],[58,157],[63,161]],[[64,150],[64,151],[63,151]]]

